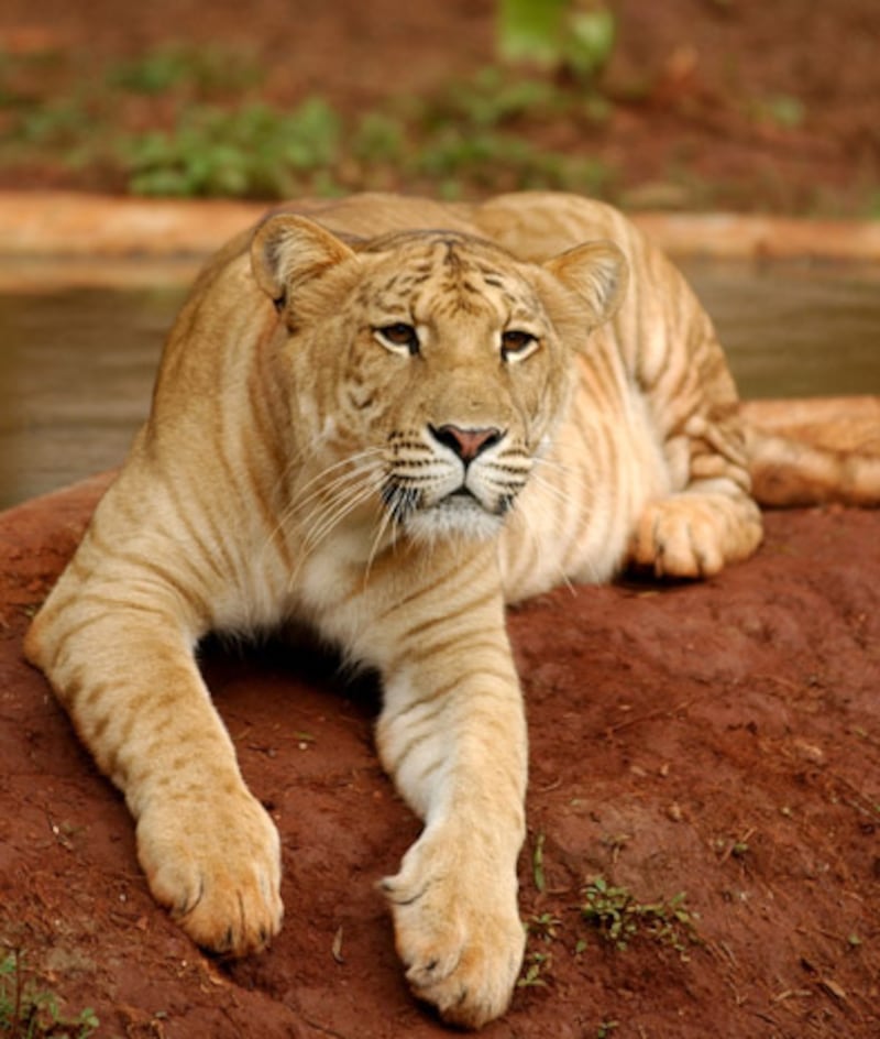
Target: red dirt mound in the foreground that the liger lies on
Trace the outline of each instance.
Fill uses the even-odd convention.
[[[282,832],[272,949],[210,959],[151,900],[121,799],[21,656],[101,485],[0,516],[0,938],[66,1013],[92,1006],[101,1036],[444,1033],[406,991],[375,889],[418,824],[372,748],[374,691],[332,661],[206,656]],[[880,515],[767,527],[755,559],[705,583],[560,590],[512,613],[531,984],[487,1037],[880,1033]],[[580,911],[596,877],[632,896],[607,896],[607,923],[648,907],[625,949]],[[682,892],[679,918],[650,909]]]

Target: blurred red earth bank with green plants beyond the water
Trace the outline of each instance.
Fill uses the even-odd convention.
[[[880,216],[877,0],[3,0],[0,188]]]

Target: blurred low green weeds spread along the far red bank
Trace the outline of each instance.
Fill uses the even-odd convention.
[[[56,164],[150,196],[406,186],[447,198],[528,188],[610,197],[616,187],[616,169],[565,146],[612,109],[572,77],[493,65],[352,117],[322,97],[293,109],[260,100],[265,75],[246,50],[168,44],[99,68],[76,55],[47,67],[50,87],[35,59],[0,52],[0,163]]]

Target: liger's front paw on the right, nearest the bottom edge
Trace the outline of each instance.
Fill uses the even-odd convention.
[[[420,843],[383,883],[397,952],[419,999],[450,1024],[480,1028],[507,1009],[522,963],[516,876],[510,864]]]

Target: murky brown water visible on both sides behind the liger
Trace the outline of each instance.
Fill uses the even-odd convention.
[[[880,393],[880,274],[682,264],[744,397]],[[185,289],[0,294],[0,508],[118,466]]]

